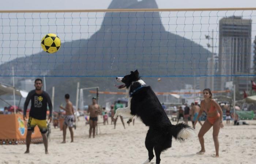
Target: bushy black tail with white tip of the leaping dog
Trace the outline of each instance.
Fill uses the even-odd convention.
[[[172,125],[170,130],[172,136],[180,142],[184,142],[187,138],[195,135],[194,129],[184,123]]]

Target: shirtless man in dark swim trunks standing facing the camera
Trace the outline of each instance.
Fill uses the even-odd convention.
[[[97,98],[92,98],[93,104],[89,105],[87,113],[90,113],[90,129],[89,129],[89,138],[91,138],[91,130],[93,130],[93,138],[95,137],[95,128],[97,126],[98,114],[100,113],[99,105],[97,104]]]

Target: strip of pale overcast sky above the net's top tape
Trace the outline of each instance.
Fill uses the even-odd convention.
[[[129,0],[128,0],[129,1]],[[155,0],[158,8],[254,7],[255,0]],[[106,9],[111,0],[1,0],[0,10]]]

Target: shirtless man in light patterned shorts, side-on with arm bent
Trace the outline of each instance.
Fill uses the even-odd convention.
[[[65,108],[63,106],[60,106],[60,109],[63,109],[66,111],[64,123],[63,123],[63,141],[61,143],[66,143],[66,133],[67,133],[67,127],[69,129],[70,135],[71,135],[71,142],[74,142],[74,133],[73,133],[73,122],[75,122],[75,113],[73,104],[71,101],[69,101],[69,94],[65,94],[65,101],[66,106]]]

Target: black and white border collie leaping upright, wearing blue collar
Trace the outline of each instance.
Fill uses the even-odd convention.
[[[145,140],[148,159],[144,164],[153,159],[153,149],[156,163],[159,164],[161,152],[172,146],[172,137],[182,142],[194,134],[194,130],[186,124],[172,125],[154,91],[139,78],[138,70],[131,71],[131,74],[125,77],[116,77],[116,80],[124,83],[117,87],[126,89],[129,100],[126,108],[116,110],[114,119],[120,115],[128,117],[127,123],[130,123],[133,117],[138,116],[146,126],[149,126]]]

